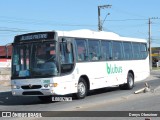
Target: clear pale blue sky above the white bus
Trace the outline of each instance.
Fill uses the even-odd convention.
[[[101,9],[104,31],[148,40],[151,18],[151,46],[160,47],[160,0],[0,0],[0,46],[35,31],[98,31],[102,5],[112,5]]]

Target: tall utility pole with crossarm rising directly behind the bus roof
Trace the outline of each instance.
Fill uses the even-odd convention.
[[[98,31],[102,31],[102,21],[101,21],[101,9],[110,8],[111,5],[98,6]]]

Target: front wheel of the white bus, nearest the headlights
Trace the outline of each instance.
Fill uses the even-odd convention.
[[[83,78],[80,78],[78,83],[78,92],[76,93],[76,97],[78,99],[83,99],[87,95],[87,83]]]

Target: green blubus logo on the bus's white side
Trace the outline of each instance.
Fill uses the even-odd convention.
[[[116,66],[111,64],[106,64],[107,73],[108,74],[116,74],[116,73],[122,73],[122,66]]]

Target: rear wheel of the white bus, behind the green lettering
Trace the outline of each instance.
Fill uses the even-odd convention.
[[[123,89],[123,90],[131,90],[134,87],[133,74],[129,72],[127,75],[127,83],[120,85],[119,87],[120,87],[120,89]]]

